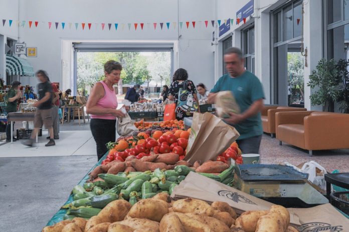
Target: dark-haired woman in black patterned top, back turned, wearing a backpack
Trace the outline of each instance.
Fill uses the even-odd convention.
[[[185,99],[181,99],[181,101],[187,101],[186,105],[178,106],[176,108],[176,117],[178,120],[183,120],[184,117],[193,116],[194,109],[199,110],[199,108],[194,107],[194,100],[197,104],[199,104],[199,99],[197,96],[197,90],[195,88],[195,84],[192,80],[188,79],[188,72],[184,68],[179,68],[173,73],[173,81],[169,86],[168,90],[168,99],[174,100],[175,103],[178,103],[179,100],[179,91],[187,90]]]

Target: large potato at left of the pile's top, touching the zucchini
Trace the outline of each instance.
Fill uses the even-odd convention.
[[[101,222],[115,222],[123,220],[131,208],[131,204],[126,200],[113,200],[108,203],[99,213]]]

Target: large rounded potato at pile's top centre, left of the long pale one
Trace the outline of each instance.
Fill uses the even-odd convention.
[[[128,215],[133,218],[146,218],[160,222],[166,213],[168,213],[168,205],[165,201],[148,198],[135,203]]]

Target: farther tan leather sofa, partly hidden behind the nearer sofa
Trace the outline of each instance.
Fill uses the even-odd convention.
[[[275,130],[275,113],[276,112],[305,111],[305,110],[306,108],[288,107],[288,106],[279,106],[279,105],[264,106],[261,111],[263,131],[266,133],[270,133],[271,137],[274,137],[274,134],[276,133],[276,130]]]

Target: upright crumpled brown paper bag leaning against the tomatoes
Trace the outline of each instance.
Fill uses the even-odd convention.
[[[204,162],[216,159],[239,136],[233,126],[212,113],[195,112],[184,159],[192,164],[197,160]]]

